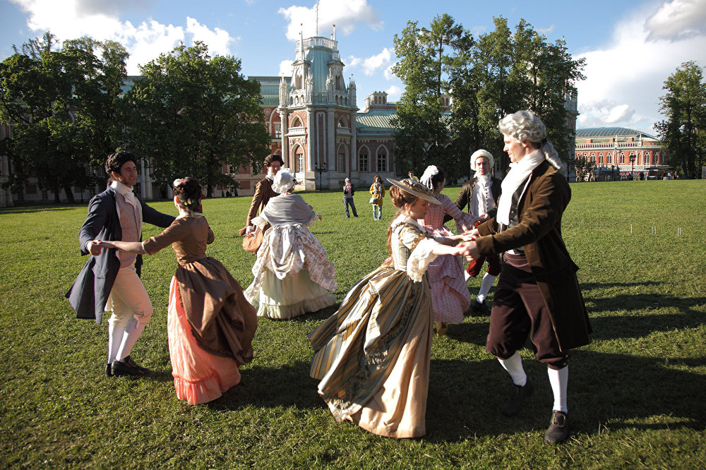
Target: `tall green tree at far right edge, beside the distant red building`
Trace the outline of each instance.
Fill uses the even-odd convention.
[[[694,61],[679,66],[664,81],[660,110],[666,119],[654,124],[669,150],[669,162],[687,178],[695,178],[704,164],[706,144],[706,85],[703,68]]]

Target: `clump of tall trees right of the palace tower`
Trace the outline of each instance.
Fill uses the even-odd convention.
[[[584,59],[573,59],[563,40],[549,42],[525,20],[514,32],[502,16],[493,23],[494,30],[474,36],[444,13],[429,27],[408,21],[395,35],[393,73],[405,83],[393,118],[395,155],[405,172],[437,164],[449,179],[469,175],[467,162],[479,148],[506,169],[498,120],[519,109],[536,113],[558,154],[568,157],[574,136],[566,98],[585,78]]]

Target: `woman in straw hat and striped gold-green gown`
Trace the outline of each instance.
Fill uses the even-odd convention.
[[[309,334],[311,377],[336,421],[371,433],[416,438],[426,433],[433,313],[426,267],[458,255],[462,236],[433,238],[419,226],[433,194],[418,181],[388,179],[400,207],[388,229],[390,258],[361,279],[339,310]]]

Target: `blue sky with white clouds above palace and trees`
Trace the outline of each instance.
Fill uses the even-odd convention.
[[[169,52],[179,40],[202,40],[212,54],[242,59],[246,76],[288,71],[294,40],[316,34],[316,1],[275,0],[0,0],[0,59],[51,30],[61,40],[90,35],[117,40],[131,52],[128,73]],[[579,127],[626,126],[652,132],[664,80],[684,61],[706,65],[706,0],[321,0],[318,35],[336,39],[345,77],[357,84],[358,106],[370,92],[400,97],[390,73],[393,36],[408,20],[429,25],[449,13],[474,35],[493,16],[514,27],[521,18],[569,52],[587,59],[579,89]],[[300,26],[303,23],[302,26]]]

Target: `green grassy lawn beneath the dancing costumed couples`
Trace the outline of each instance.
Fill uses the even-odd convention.
[[[155,314],[133,356],[153,372],[107,379],[107,322],[76,319],[64,299],[86,260],[77,241],[85,205],[0,210],[0,466],[706,468],[706,182],[571,188],[563,236],[581,268],[594,334],[570,359],[573,435],[558,447],[542,441],[551,388],[530,349],[522,356],[534,397],[514,418],[501,416],[510,378],[485,351],[483,317],[433,339],[421,439],[337,424],[318,397],[306,334],[337,305],[292,321],[261,319],[241,385],[210,404],[180,402],[167,349],[171,249],[143,267]],[[455,199],[458,191],[445,193]],[[385,198],[383,221],[374,222],[364,191],[357,219],[345,219],[340,193],[304,198],[323,216],[312,231],[336,264],[340,301],[386,257],[394,207]],[[204,203],[216,235],[208,254],[244,288],[255,256],[241,249],[237,230],[249,203]],[[151,205],[176,214],[170,202]],[[157,231],[145,226],[145,236]],[[472,294],[479,285],[469,282]]]

